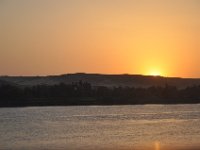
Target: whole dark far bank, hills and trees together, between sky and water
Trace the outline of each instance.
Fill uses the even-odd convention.
[[[200,79],[85,73],[0,77],[0,107],[194,103],[200,103]]]

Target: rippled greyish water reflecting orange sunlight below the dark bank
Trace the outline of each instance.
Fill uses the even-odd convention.
[[[200,144],[200,105],[0,108],[0,149],[162,149]]]

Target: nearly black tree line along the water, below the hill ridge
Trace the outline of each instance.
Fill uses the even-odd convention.
[[[34,105],[118,105],[199,103],[200,86],[92,87],[87,82],[19,87],[0,86],[0,106]]]

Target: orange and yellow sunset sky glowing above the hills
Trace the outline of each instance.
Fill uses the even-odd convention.
[[[0,0],[0,75],[200,78],[200,0]]]

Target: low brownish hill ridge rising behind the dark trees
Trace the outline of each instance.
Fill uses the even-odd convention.
[[[73,82],[88,82],[92,86],[106,87],[150,87],[150,86],[165,86],[173,85],[177,88],[185,88],[193,85],[200,85],[200,79],[191,78],[173,78],[161,76],[142,76],[142,75],[105,75],[105,74],[86,74],[75,73],[58,76],[1,76],[0,85],[15,84],[19,86],[34,86],[34,85],[56,85],[59,83],[71,84]]]

